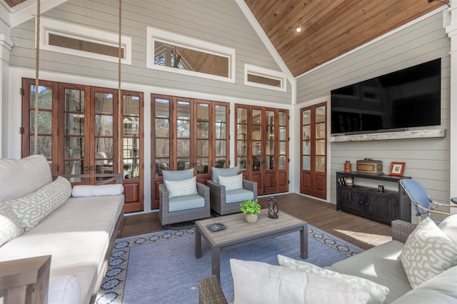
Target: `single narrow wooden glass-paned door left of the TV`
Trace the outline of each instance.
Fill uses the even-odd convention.
[[[326,199],[326,103],[301,108],[300,192]]]

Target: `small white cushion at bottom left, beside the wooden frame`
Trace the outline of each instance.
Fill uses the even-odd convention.
[[[78,304],[81,288],[74,275],[49,278],[48,304]]]

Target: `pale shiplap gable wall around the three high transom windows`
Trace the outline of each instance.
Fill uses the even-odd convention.
[[[118,4],[119,1],[114,0],[71,0],[43,15],[116,33]],[[132,65],[122,66],[123,82],[291,104],[290,83],[287,92],[243,85],[244,63],[277,71],[279,68],[236,1],[124,0],[122,8],[123,34],[133,39]],[[146,69],[146,26],[236,49],[236,83]],[[11,66],[34,69],[34,20],[11,29],[11,39],[15,42]],[[40,59],[40,69],[44,71],[107,80],[117,78],[116,63],[52,51],[41,51]]]

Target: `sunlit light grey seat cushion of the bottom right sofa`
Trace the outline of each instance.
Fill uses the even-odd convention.
[[[326,269],[366,278],[386,286],[390,292],[386,296],[385,303],[391,303],[411,290],[400,260],[404,245],[398,240],[391,240],[334,263]]]

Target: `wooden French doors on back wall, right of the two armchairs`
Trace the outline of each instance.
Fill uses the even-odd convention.
[[[236,163],[258,195],[288,191],[288,111],[235,105]]]

